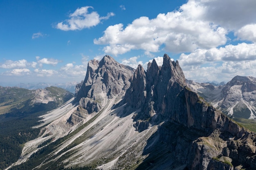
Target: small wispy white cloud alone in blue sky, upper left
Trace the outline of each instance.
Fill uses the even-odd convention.
[[[59,22],[55,27],[63,31],[82,30],[96,26],[101,22],[101,20],[108,20],[111,16],[115,15],[114,13],[110,12],[107,14],[107,16],[100,17],[97,12],[92,11],[90,13],[88,9],[93,9],[93,7],[86,6],[76,9],[74,13],[69,15],[70,19]]]

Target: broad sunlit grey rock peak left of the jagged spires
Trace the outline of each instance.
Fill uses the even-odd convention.
[[[118,63],[109,55],[101,61],[90,60],[84,81],[76,86],[75,101],[79,107],[69,122],[76,124],[87,114],[99,112],[115,95],[124,94],[130,87],[134,69]]]

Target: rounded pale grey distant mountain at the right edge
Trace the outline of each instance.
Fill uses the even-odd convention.
[[[236,76],[221,92],[220,110],[233,117],[256,118],[256,78]]]

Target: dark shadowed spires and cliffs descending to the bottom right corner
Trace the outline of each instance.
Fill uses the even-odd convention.
[[[256,134],[187,88],[178,62],[168,55],[164,55],[162,67],[155,60],[148,64],[147,72],[138,66],[124,100],[139,110],[133,116],[136,130],[159,126],[144,149],[145,155],[153,155],[149,161],[159,151],[147,148],[162,146],[169,150],[162,157],[175,157],[178,165],[185,164],[189,170],[255,168]],[[157,166],[155,163],[151,168]]]

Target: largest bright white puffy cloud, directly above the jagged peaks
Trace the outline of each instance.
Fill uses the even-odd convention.
[[[124,28],[108,26],[94,44],[106,45],[105,53],[123,54],[133,49],[180,53],[210,49],[227,42],[227,29],[204,19],[207,10],[199,2],[189,1],[179,11],[160,13],[156,18],[140,17]]]

